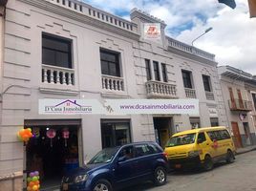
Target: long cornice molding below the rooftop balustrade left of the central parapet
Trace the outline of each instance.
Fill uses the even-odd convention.
[[[23,3],[29,4],[31,6],[34,6],[36,8],[39,8],[41,10],[44,11],[50,11],[53,12],[54,14],[60,15],[60,16],[64,16],[66,18],[69,19],[73,19],[77,22],[83,23],[83,24],[88,24],[90,26],[96,27],[100,30],[105,30],[107,32],[113,32],[116,34],[119,34],[121,36],[124,37],[128,37],[130,39],[134,39],[134,40],[139,40],[139,34],[135,33],[135,32],[129,32],[129,31],[125,31],[121,28],[117,28],[115,26],[112,26],[108,23],[105,23],[103,21],[94,19],[90,16],[81,14],[79,12],[76,11],[72,11],[72,10],[68,10],[65,7],[60,7],[58,5],[55,5],[53,3],[44,1],[44,0],[19,0]]]

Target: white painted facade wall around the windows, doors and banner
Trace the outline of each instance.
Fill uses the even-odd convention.
[[[115,26],[104,24],[80,13],[47,1],[10,0],[7,9],[3,84],[10,88],[3,96],[2,134],[0,144],[0,175],[23,170],[23,144],[16,138],[16,132],[24,125],[24,119],[81,118],[83,157],[91,159],[101,149],[100,118],[109,116],[50,116],[38,115],[38,99],[41,98],[147,98],[145,90],[146,73],[144,59],[165,63],[168,82],[177,86],[178,97],[185,98],[181,69],[193,73],[193,80],[200,99],[200,116],[203,126],[209,126],[208,107],[216,107],[220,124],[225,124],[222,92],[216,70],[216,63],[194,55],[178,55],[163,46],[139,41],[135,32],[126,32]],[[42,3],[48,10],[31,3]],[[39,4],[38,4],[39,5]],[[50,11],[54,9],[55,11]],[[64,12],[68,12],[65,14]],[[138,22],[139,20],[137,20]],[[99,25],[100,24],[100,25]],[[75,86],[61,87],[41,82],[41,35],[48,32],[73,40],[73,63]],[[140,39],[141,40],[141,39]],[[103,91],[99,48],[120,53],[121,76],[124,78],[122,93]],[[205,98],[202,74],[211,77],[215,100]],[[12,86],[14,85],[14,86]],[[166,117],[166,116],[165,116]],[[189,116],[174,115],[174,125],[180,130],[190,129]],[[130,118],[132,140],[155,140],[153,117],[151,115],[118,116]]]

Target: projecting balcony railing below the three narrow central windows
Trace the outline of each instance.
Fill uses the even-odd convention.
[[[177,97],[176,85],[167,84],[160,81],[147,81],[146,91],[148,97]]]

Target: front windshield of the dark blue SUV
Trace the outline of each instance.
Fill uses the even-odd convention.
[[[108,163],[112,161],[117,153],[117,149],[118,147],[103,149],[98,152],[96,156],[88,162],[88,164]]]

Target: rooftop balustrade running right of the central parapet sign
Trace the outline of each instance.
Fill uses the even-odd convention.
[[[175,40],[173,38],[170,38],[170,37],[167,37],[167,39],[168,39],[168,46],[171,48],[175,48],[175,49],[181,50],[186,53],[191,53],[191,54],[203,57],[203,58],[211,60],[211,61],[215,60],[215,58],[214,58],[215,55],[212,53],[204,52],[200,49],[197,49],[193,46],[187,45],[185,43],[182,43],[182,42]]]

